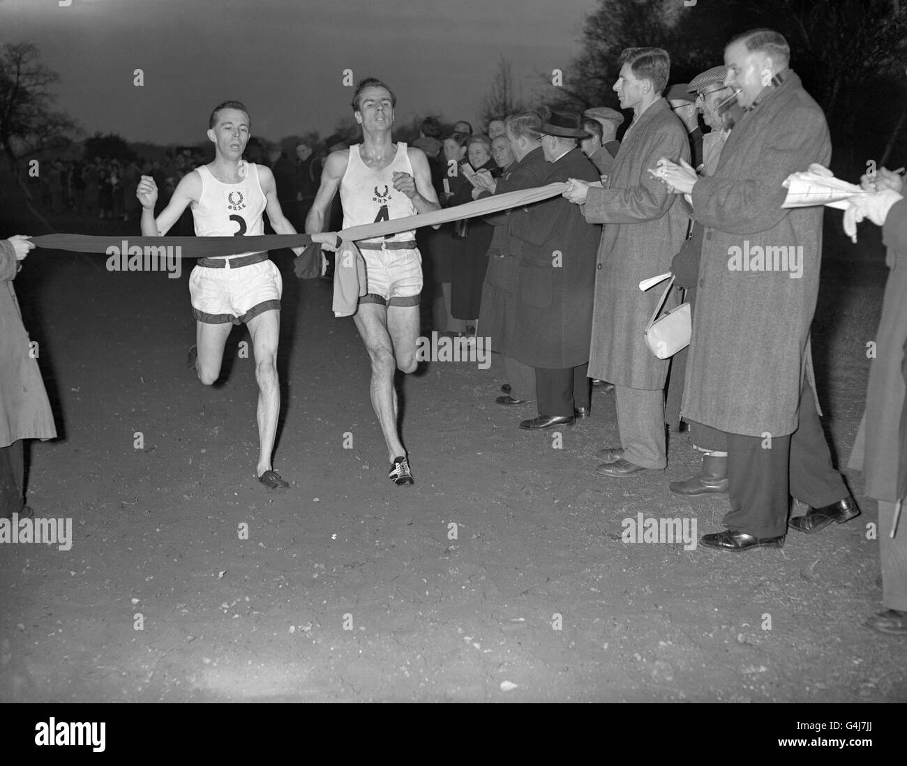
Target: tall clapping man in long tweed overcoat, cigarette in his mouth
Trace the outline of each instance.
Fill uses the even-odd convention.
[[[779,548],[789,496],[809,508],[791,526],[816,532],[859,513],[832,467],[815,402],[809,331],[819,290],[823,208],[784,209],[782,182],[828,164],[824,114],[788,67],[772,30],[725,49],[727,82],[745,110],[715,173],[670,165],[706,230],[682,412],[727,432],[727,529],[704,545]]]

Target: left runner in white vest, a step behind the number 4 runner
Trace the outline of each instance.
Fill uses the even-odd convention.
[[[208,138],[214,144],[214,161],[180,180],[157,220],[157,186],[151,176],[141,177],[136,196],[143,208],[143,237],[163,237],[187,207],[192,210],[199,237],[263,234],[263,212],[268,213],[268,221],[278,234],[297,233],[280,209],[271,171],[242,160],[249,124],[249,112],[240,102],[223,102],[211,112]],[[301,255],[302,247],[294,248],[294,252]],[[271,464],[280,412],[277,357],[282,290],[280,272],[268,260],[268,253],[202,258],[190,276],[196,345],[190,349],[188,361],[202,383],[211,385],[218,379],[233,325],[245,322],[249,326],[258,381],[256,476],[269,490],[289,487]]]

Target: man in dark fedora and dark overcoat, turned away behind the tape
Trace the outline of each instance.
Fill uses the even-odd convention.
[[[541,150],[550,164],[541,186],[599,179],[577,143],[586,137],[580,114],[545,110]],[[543,429],[589,415],[589,346],[594,296],[595,253],[601,228],[580,208],[556,197],[532,205],[512,219],[518,251],[512,343],[509,353],[535,368],[539,416],[520,423]]]

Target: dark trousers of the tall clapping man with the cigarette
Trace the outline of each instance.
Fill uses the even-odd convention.
[[[728,529],[775,538],[787,529],[791,495],[814,508],[848,496],[805,380],[798,414],[796,431],[786,436],[727,434]]]

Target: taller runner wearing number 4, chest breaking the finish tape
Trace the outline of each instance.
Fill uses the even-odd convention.
[[[395,105],[394,93],[374,77],[356,86],[353,113],[362,126],[363,141],[348,153],[327,155],[321,186],[306,219],[307,233],[324,230],[325,213],[338,187],[344,228],[441,207],[423,151],[392,141]],[[397,485],[413,484],[397,431],[394,368],[412,373],[416,367],[422,257],[414,231],[356,244],[366,262],[367,295],[359,298],[354,321],[372,360],[372,406],[384,432],[391,480]]]

